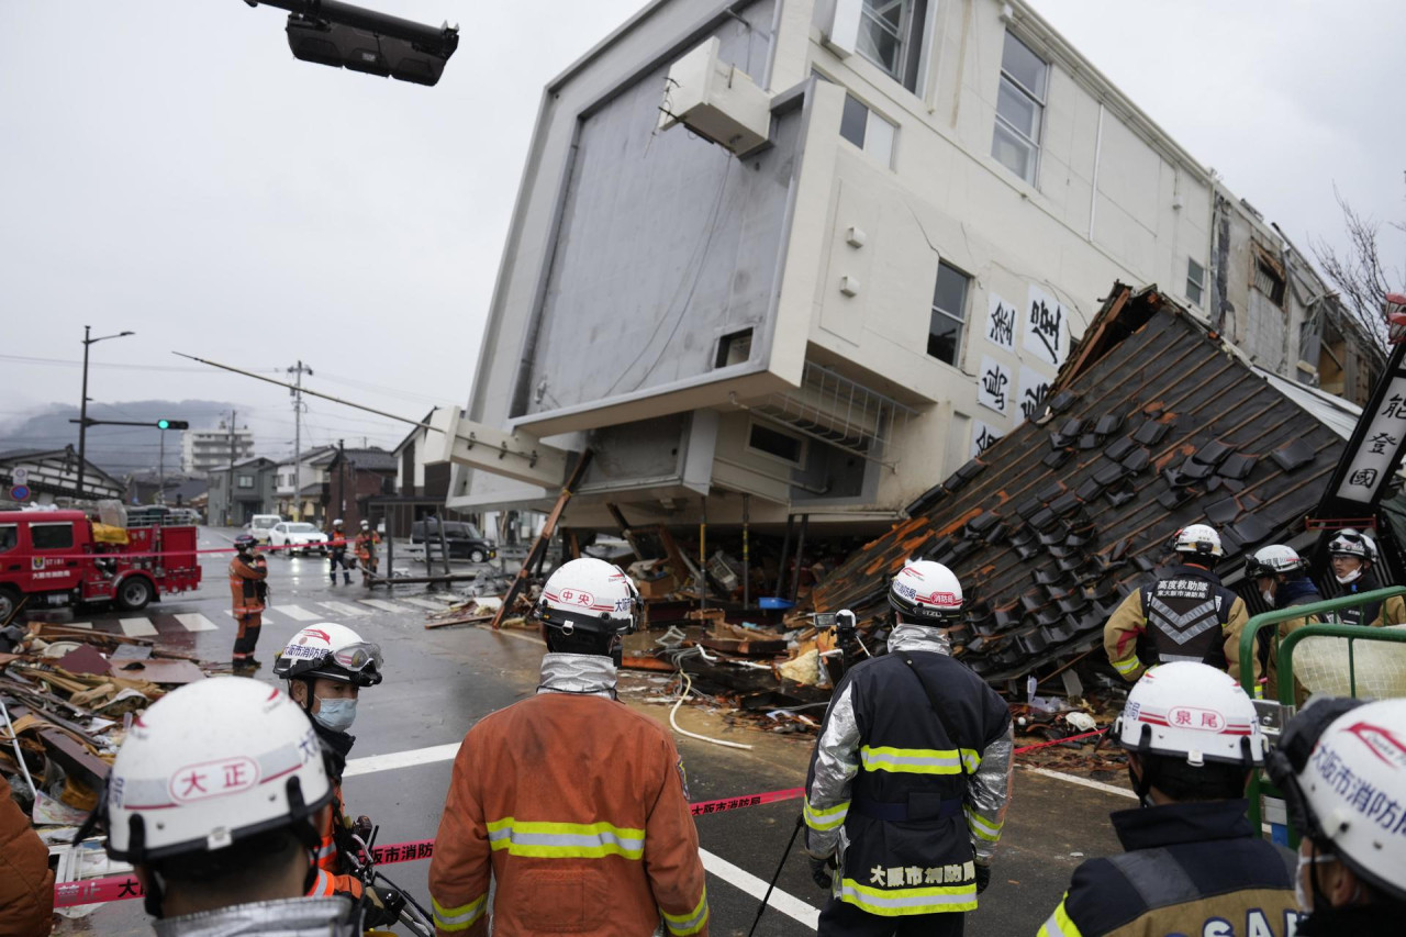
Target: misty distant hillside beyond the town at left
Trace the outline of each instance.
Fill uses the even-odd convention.
[[[129,419],[155,423],[157,419],[184,419],[194,429],[219,425],[221,415],[228,415],[231,407],[214,400],[142,400],[125,404],[90,404],[90,419]],[[0,452],[11,449],[63,449],[79,445],[79,408],[53,404],[30,416],[20,416],[0,426]],[[240,421],[243,425],[243,421]],[[180,432],[166,432],[166,471],[180,467]],[[156,468],[160,453],[162,431],[155,426],[90,426],[87,432],[89,461],[104,471],[122,476],[128,471]]]

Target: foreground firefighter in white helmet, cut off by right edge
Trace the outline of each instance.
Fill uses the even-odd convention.
[[[1302,937],[1400,934],[1406,699],[1324,699],[1289,722],[1268,771],[1299,841]]]

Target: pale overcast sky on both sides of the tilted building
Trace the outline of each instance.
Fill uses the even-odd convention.
[[[136,332],[93,346],[93,398],[238,401],[271,454],[287,391],[172,350],[464,404],[541,87],[641,1],[364,0],[463,27],[425,89],[297,62],[240,0],[0,0],[0,428],[77,402],[86,324]],[[1406,218],[1398,0],[1035,6],[1301,248],[1340,239],[1334,183]],[[312,442],[404,435],[309,405]]]

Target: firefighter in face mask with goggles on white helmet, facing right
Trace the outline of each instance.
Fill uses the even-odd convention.
[[[273,674],[287,682],[288,696],[312,720],[318,740],[328,751],[332,778],[332,812],[321,827],[318,867],[332,877],[337,893],[361,898],[361,882],[350,874],[346,857],[354,854],[353,833],[370,833],[370,820],[346,816],[342,772],[356,737],[347,733],[356,719],[361,689],[381,682],[381,647],[363,640],[346,625],[321,622],[294,635],[274,661]]]

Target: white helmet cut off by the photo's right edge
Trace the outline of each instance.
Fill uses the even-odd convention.
[[[1294,826],[1353,872],[1406,900],[1406,699],[1326,699],[1270,754]]]

